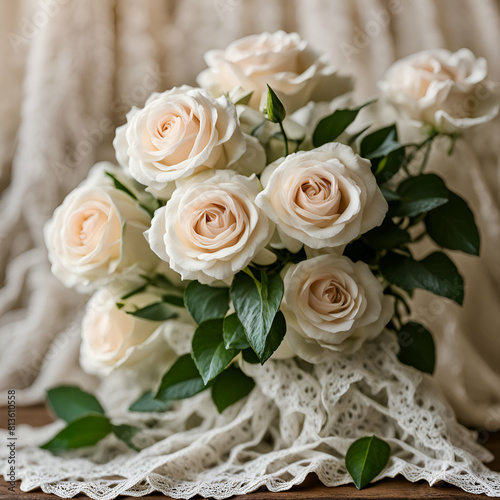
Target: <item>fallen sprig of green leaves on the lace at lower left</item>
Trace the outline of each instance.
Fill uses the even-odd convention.
[[[99,401],[88,392],[74,386],[61,386],[47,391],[47,402],[51,410],[67,425],[41,448],[52,452],[92,446],[110,434],[135,451],[133,443],[139,428],[115,425],[106,416]]]

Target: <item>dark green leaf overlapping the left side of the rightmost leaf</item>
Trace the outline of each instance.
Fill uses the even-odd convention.
[[[404,180],[398,187],[401,197],[391,215],[414,217],[448,203],[449,191],[445,183],[435,174],[423,174]]]

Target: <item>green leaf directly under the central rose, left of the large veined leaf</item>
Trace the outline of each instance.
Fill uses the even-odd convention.
[[[184,303],[196,323],[223,318],[229,309],[229,288],[216,288],[192,281],[184,292]]]

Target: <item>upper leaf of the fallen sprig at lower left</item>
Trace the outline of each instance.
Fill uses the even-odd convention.
[[[89,413],[104,415],[99,401],[92,394],[75,386],[60,386],[49,389],[47,402],[52,411],[68,423]]]

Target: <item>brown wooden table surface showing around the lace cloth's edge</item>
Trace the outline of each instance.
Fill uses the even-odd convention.
[[[5,413],[6,409],[3,408]],[[3,416],[2,416],[3,417]],[[17,424],[28,423],[34,426],[44,425],[52,421],[43,406],[18,407],[16,408]],[[5,428],[6,418],[0,418],[0,428]],[[496,471],[500,471],[500,433],[489,435],[484,446],[494,455],[495,461],[489,466]],[[482,495],[482,497],[487,498]],[[55,495],[47,495],[40,490],[24,493],[19,489],[19,482],[15,493],[8,490],[7,483],[0,479],[0,498],[5,500],[51,500],[56,499]],[[79,495],[77,498],[86,498]],[[120,500],[135,500],[132,497],[119,497]],[[168,500],[161,493],[148,495],[140,498],[155,498]],[[378,483],[368,486],[362,491],[358,491],[354,486],[339,486],[336,488],[327,488],[321,484],[315,477],[308,478],[302,485],[283,493],[270,493],[267,490],[259,490],[250,495],[234,497],[235,500],[327,500],[327,499],[350,499],[350,500],[412,500],[412,499],[449,499],[462,500],[477,498],[477,495],[465,493],[462,490],[443,484],[440,486],[429,487],[425,482],[410,483],[402,477],[395,479],[383,479]]]

